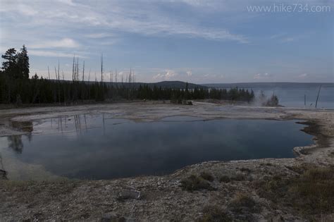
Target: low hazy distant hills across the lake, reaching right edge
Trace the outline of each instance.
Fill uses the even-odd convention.
[[[304,87],[334,87],[333,82],[240,82],[240,83],[212,83],[202,84],[205,87],[214,88],[304,88]]]

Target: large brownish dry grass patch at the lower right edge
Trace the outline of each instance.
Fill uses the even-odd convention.
[[[253,183],[257,193],[302,214],[334,213],[334,167],[303,166],[297,178],[280,175]]]

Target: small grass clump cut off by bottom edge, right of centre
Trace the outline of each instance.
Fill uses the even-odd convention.
[[[198,220],[199,222],[214,222],[214,221],[221,221],[221,222],[228,222],[232,221],[230,216],[220,209],[218,206],[205,206],[203,209],[203,216]]]

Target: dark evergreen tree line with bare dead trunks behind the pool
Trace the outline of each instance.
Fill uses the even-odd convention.
[[[134,75],[129,75],[128,82],[113,84],[104,82],[103,57],[101,56],[101,81],[84,81],[78,78],[78,61],[73,58],[73,80],[61,80],[59,67],[55,68],[56,80],[39,78],[37,73],[29,78],[29,56],[23,45],[20,51],[8,49],[4,55],[2,70],[0,70],[0,103],[6,104],[73,104],[78,101],[106,101],[120,99],[154,99],[171,100],[174,103],[182,103],[187,99],[225,99],[231,101],[252,101],[252,90],[238,89],[237,87],[226,89],[194,88],[173,89],[163,87],[137,86],[134,84]]]

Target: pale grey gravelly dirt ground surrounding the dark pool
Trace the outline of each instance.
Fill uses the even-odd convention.
[[[168,116],[298,119],[306,122],[304,131],[314,135],[314,144],[295,147],[297,157],[292,159],[209,161],[164,176],[0,180],[0,221],[334,220],[330,200],[319,200],[321,204],[314,207],[304,206],[300,202],[306,202],[308,194],[291,191],[309,168],[333,169],[334,111],[229,106],[204,101],[194,101],[192,106],[147,101],[4,109],[0,112],[0,137],[27,133],[13,122],[85,113],[108,113],[134,121],[159,121]],[[274,197],[275,193],[282,195]],[[301,201],[292,201],[293,195]]]

